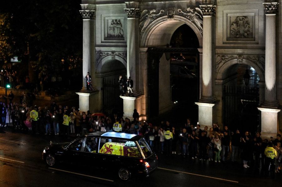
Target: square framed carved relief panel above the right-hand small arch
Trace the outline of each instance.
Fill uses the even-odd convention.
[[[223,43],[258,44],[259,10],[223,11]]]

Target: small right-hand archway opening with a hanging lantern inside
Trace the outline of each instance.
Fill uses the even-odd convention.
[[[247,64],[233,64],[224,71],[222,86],[223,124],[233,132],[260,131],[259,80],[256,70]]]

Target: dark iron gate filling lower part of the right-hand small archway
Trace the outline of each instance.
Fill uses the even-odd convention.
[[[235,132],[257,131],[259,125],[259,87],[223,87],[223,124]]]

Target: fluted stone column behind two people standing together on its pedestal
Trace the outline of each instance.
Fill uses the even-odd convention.
[[[138,59],[139,59],[139,8],[125,8],[127,14],[127,77],[133,80],[133,93],[138,87]]]

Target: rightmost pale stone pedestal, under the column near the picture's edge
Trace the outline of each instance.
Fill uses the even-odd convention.
[[[261,137],[276,137],[278,132],[278,109],[258,108],[261,111]]]

